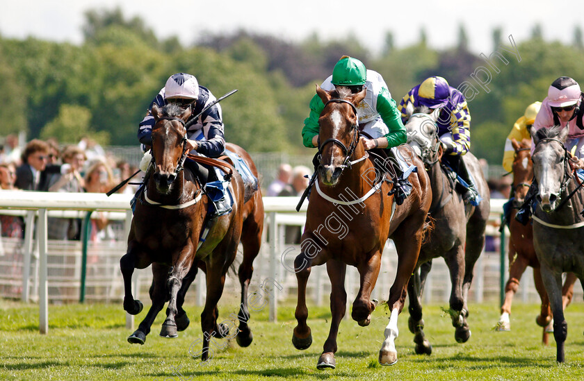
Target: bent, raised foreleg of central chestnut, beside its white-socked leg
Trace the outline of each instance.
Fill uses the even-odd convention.
[[[375,303],[371,301],[371,292],[379,276],[381,266],[381,251],[371,255],[367,263],[359,264],[360,287],[357,298],[352,305],[351,317],[362,327],[371,323],[371,312],[375,310]]]

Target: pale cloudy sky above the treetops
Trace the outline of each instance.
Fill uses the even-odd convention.
[[[0,35],[81,44],[84,12],[116,7],[127,19],[145,20],[157,37],[176,35],[186,46],[204,33],[243,28],[289,42],[300,42],[314,33],[323,41],[354,35],[378,53],[388,31],[394,35],[394,44],[403,47],[418,41],[423,27],[428,44],[444,49],[456,43],[462,24],[469,49],[489,53],[494,50],[492,29],[496,27],[502,28],[506,43],[509,35],[515,42],[525,40],[535,24],[542,26],[546,40],[564,43],[572,42],[575,26],[584,30],[584,1],[579,0],[0,0]]]

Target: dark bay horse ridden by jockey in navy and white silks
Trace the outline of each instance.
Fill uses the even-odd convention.
[[[143,202],[136,203],[127,254],[120,260],[124,277],[124,310],[138,314],[143,305],[131,293],[133,269],[144,269],[152,264],[153,281],[150,287],[152,307],[138,330],[128,338],[131,344],[144,344],[146,335],[169,301],[167,318],[161,328],[162,337],[177,337],[177,331],[186,329],[188,317],[182,305],[184,296],[197,274],[197,267],[206,273],[206,302],[201,314],[204,334],[202,360],[209,356],[209,339],[213,335],[225,337],[225,326],[217,325],[217,303],[225,284],[225,274],[232,265],[240,239],[243,243],[243,262],[238,277],[241,282],[240,325],[237,342],[249,346],[252,333],[247,325],[247,291],[252,277],[252,262],[259,252],[263,229],[263,202],[259,192],[246,192],[237,171],[231,171],[229,191],[233,195],[233,210],[229,214],[208,221],[209,198],[195,173],[183,164],[186,153],[185,122],[190,108],[170,104],[152,108],[155,124],[152,129],[152,156],[154,173],[147,180]],[[238,153],[257,176],[250,156],[241,147],[227,144]],[[151,164],[152,165],[152,164]],[[230,168],[229,164],[225,164]],[[225,169],[225,167],[224,167]],[[204,230],[209,229],[202,237]],[[242,232],[244,234],[241,237]]]

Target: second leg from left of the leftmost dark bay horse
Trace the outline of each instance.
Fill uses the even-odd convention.
[[[164,303],[168,300],[168,292],[166,291],[166,277],[168,276],[168,266],[161,264],[152,264],[152,286],[150,287],[150,299],[152,306],[144,317],[143,321],[138,325],[138,329],[128,337],[130,344],[144,344],[146,336],[150,333],[150,327],[156,319],[156,315],[164,307]]]

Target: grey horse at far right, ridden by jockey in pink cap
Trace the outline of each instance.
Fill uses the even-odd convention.
[[[568,127],[562,126],[532,131],[538,190],[532,215],[533,247],[553,314],[558,362],[565,362],[568,331],[562,305],[562,273],[573,272],[581,283],[584,280],[584,192],[578,176],[572,176],[570,170],[571,155],[564,146],[567,136]]]

